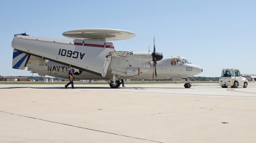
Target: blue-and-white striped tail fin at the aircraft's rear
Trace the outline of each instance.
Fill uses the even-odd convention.
[[[30,55],[13,49],[12,68],[24,70],[28,64]]]

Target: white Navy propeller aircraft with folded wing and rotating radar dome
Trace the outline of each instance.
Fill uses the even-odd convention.
[[[117,88],[120,79],[188,78],[202,68],[180,56],[165,57],[156,52],[115,51],[108,41],[133,38],[134,33],[117,29],[78,29],[63,36],[74,40],[42,38],[27,33],[15,34],[12,40],[12,67],[40,76],[68,77],[74,68],[76,79],[106,79]],[[184,84],[189,88],[189,81]]]

